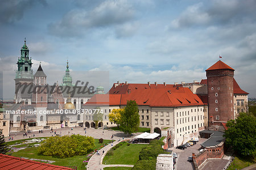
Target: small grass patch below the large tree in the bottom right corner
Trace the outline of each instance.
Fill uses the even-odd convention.
[[[230,164],[228,170],[233,170],[233,169],[242,169],[245,167],[249,167],[252,164],[256,163],[256,158],[251,159],[251,158],[244,158],[242,156],[235,156],[234,161]]]

